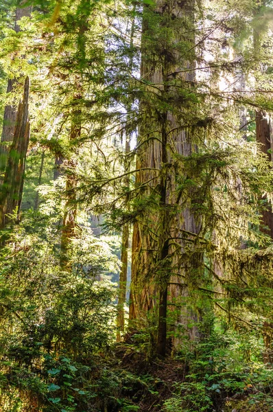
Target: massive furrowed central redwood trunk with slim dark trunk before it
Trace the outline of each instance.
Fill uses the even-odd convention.
[[[134,225],[130,319],[143,319],[145,312],[156,305],[158,295],[156,352],[163,356],[168,291],[180,307],[178,323],[187,329],[193,315],[189,309],[182,310],[181,299],[202,272],[202,253],[198,252],[200,219],[195,216],[191,199],[178,190],[182,168],[177,161],[197,150],[190,128],[183,127],[189,124],[187,112],[192,113],[194,8],[195,1],[158,1],[155,10],[143,11],[141,81],[147,88],[141,101],[145,117],[139,128],[137,186],[146,187],[142,194],[146,207]],[[182,43],[186,45],[184,53]],[[188,73],[181,73],[186,67]],[[196,119],[192,121],[193,130]],[[189,330],[192,339],[196,334],[195,328]]]

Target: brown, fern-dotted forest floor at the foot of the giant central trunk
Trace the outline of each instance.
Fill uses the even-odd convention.
[[[115,347],[112,364],[120,379],[119,407],[108,407],[108,412],[272,412],[271,389],[246,385],[243,389],[219,389],[209,393],[208,405],[200,402],[204,393],[179,391],[189,382],[189,365],[169,356],[164,360],[148,360],[144,352],[132,345],[119,343]],[[235,385],[236,387],[236,385]],[[186,396],[186,397],[185,397]],[[196,405],[194,406],[196,397]],[[186,402],[188,399],[189,402]],[[171,402],[169,402],[171,400]],[[203,405],[203,406],[202,406]]]

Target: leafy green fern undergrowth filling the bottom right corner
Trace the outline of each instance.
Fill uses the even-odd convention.
[[[194,350],[180,353],[190,373],[182,383],[175,382],[174,396],[164,402],[163,410],[228,411],[230,405],[241,405],[242,411],[270,411],[273,376],[272,368],[262,363],[264,350],[259,335],[224,332],[218,325]]]

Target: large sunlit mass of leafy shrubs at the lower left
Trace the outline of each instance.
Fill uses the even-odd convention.
[[[96,280],[117,267],[115,256],[106,242],[81,233],[71,252],[73,271],[60,271],[60,233],[52,223],[47,214],[25,213],[1,249],[3,411],[25,411],[32,398],[41,411],[53,404],[85,408],[98,396],[92,378],[94,368],[103,373],[98,353],[107,351],[115,332],[114,290]]]

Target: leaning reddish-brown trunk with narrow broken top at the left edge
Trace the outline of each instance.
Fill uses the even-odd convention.
[[[23,194],[23,181],[25,172],[25,158],[29,143],[28,119],[29,78],[25,79],[23,102],[19,103],[14,139],[8,155],[5,168],[5,177],[0,196],[0,227],[5,227],[8,214],[17,209],[17,219],[21,207]]]

